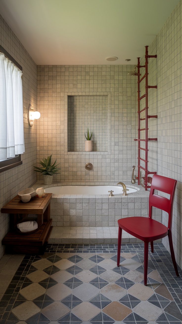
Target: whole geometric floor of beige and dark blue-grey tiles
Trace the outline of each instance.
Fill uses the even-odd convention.
[[[49,244],[26,255],[0,301],[0,323],[181,323],[182,278],[163,244],[149,252],[147,286],[143,244],[122,244],[120,267],[116,252],[116,244]]]

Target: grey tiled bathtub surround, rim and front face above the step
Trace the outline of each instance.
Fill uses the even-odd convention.
[[[114,182],[64,182],[53,183],[57,185],[116,185]],[[126,186],[135,187],[131,182],[125,182]],[[37,182],[33,187],[41,187]],[[81,226],[81,227],[108,227],[117,226],[117,220],[128,216],[148,215],[149,191],[142,186],[137,192],[129,193],[127,196],[117,194],[109,195],[57,195],[53,194],[51,200],[51,218],[53,226]],[[153,217],[161,221],[160,210],[153,211]]]

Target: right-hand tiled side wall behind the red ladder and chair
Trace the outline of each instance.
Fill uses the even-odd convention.
[[[149,54],[157,54],[150,59],[149,78],[151,85],[157,84],[157,92],[152,90],[152,113],[158,115],[151,130],[157,133],[157,143],[152,143],[150,166],[157,173],[176,179],[177,189],[173,207],[172,234],[175,256],[182,267],[182,1],[168,17],[162,29],[149,46]],[[150,150],[150,152],[152,152]],[[153,158],[154,157],[154,158]],[[167,225],[167,215],[163,213],[163,223]],[[169,250],[168,239],[163,239]]]

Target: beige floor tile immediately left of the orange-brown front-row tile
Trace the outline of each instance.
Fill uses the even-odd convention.
[[[84,301],[76,307],[72,308],[73,314],[75,314],[78,318],[83,321],[88,321],[93,318],[97,314],[100,313],[100,309],[91,303]]]

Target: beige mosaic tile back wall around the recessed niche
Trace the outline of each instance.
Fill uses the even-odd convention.
[[[137,79],[133,65],[38,66],[41,113],[37,158],[52,154],[61,163],[56,181],[126,181],[136,165]],[[108,152],[67,151],[67,96],[108,96]],[[84,134],[83,134],[84,138]],[[88,171],[85,164],[91,162]]]

